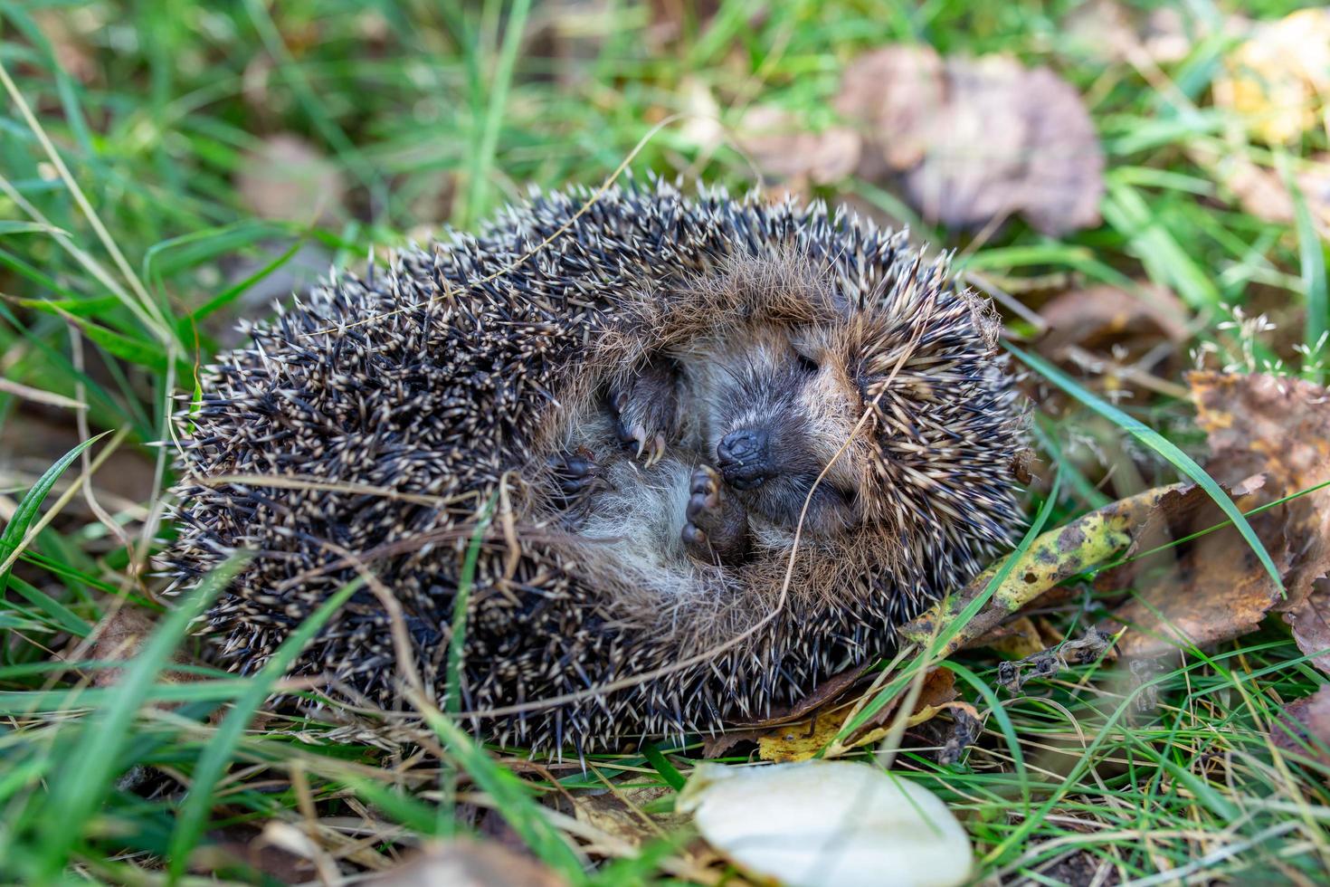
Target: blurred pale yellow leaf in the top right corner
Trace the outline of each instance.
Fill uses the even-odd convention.
[[[1224,59],[1214,104],[1244,117],[1252,134],[1273,145],[1295,142],[1322,124],[1330,132],[1330,9],[1299,9],[1252,25]]]

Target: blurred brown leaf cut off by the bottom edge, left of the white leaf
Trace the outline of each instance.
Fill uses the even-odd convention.
[[[448,840],[426,844],[396,868],[374,878],[375,887],[560,887],[545,866],[495,843]]]

